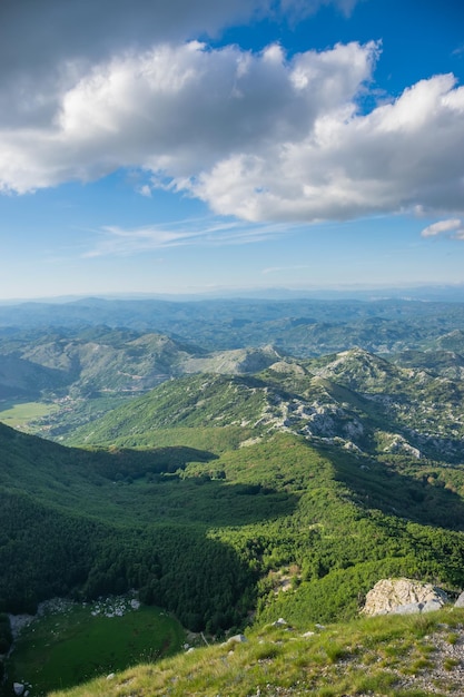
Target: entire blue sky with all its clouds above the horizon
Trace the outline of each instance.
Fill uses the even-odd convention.
[[[460,0],[0,1],[0,300],[448,284]]]

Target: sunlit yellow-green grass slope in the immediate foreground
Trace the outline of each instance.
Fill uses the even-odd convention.
[[[463,620],[462,610],[435,612],[425,636],[421,616],[356,619],[313,628],[310,636],[267,626],[250,630],[244,644],[195,649],[50,697],[451,696],[456,694],[456,661],[447,660],[438,680],[443,661],[434,638],[446,638],[453,629],[462,635]]]

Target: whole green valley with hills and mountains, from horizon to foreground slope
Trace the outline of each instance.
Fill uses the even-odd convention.
[[[456,597],[463,326],[416,301],[0,307],[0,612],[135,590],[214,642],[355,627],[392,576]]]

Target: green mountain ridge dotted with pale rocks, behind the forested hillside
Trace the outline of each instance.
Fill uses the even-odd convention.
[[[76,430],[68,442],[141,446],[160,432],[168,442],[172,429],[180,438],[182,428],[179,444],[199,443],[192,429],[205,436],[221,426],[241,441],[282,431],[372,454],[460,462],[463,396],[460,381],[354,348],[306,362],[278,360],[254,375],[169,381]]]

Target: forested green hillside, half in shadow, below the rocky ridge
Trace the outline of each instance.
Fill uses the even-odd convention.
[[[138,588],[214,631],[258,598],[264,617],[276,603],[302,615],[302,602],[308,620],[353,616],[391,573],[464,586],[460,468],[379,463],[285,433],[223,453],[1,436],[3,610]],[[275,596],[285,569],[296,592]]]

